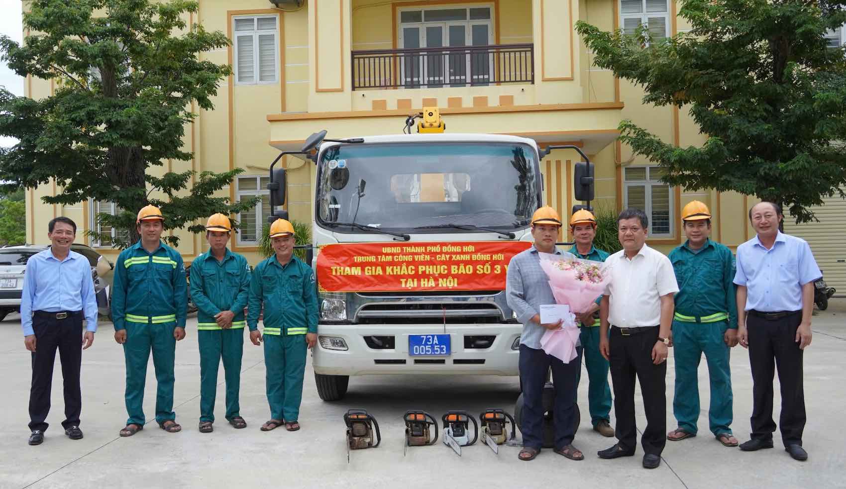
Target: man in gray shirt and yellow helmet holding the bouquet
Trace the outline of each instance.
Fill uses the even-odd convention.
[[[547,330],[557,329],[561,323],[541,324],[540,305],[555,304],[549,278],[541,269],[540,253],[561,255],[555,248],[561,217],[552,207],[538,209],[531,219],[531,233],[535,244],[529,250],[514,255],[508,265],[506,295],[508,306],[523,323],[520,335],[520,382],[523,385],[523,449],[520,460],[534,459],[541,451],[543,441],[543,386],[547,372],[552,368],[555,385],[555,407],[552,420],[555,424],[555,453],[571,460],[583,460],[585,455],[573,446],[575,436],[574,415],[576,387],[581,367],[581,347],[578,356],[569,363],[547,354],[541,349],[541,337]]]

